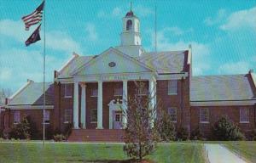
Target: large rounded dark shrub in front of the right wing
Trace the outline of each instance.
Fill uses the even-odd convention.
[[[220,141],[236,141],[245,139],[244,135],[227,116],[222,116],[212,126],[212,136],[215,140]]]

